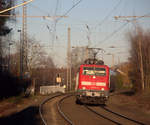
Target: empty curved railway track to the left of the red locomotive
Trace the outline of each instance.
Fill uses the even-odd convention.
[[[63,101],[64,99],[70,97],[70,96],[72,96],[72,95],[71,95],[71,94],[57,94],[57,95],[54,95],[54,96],[51,96],[51,97],[45,99],[45,100],[40,104],[40,106],[39,106],[39,113],[40,113],[40,117],[41,117],[41,119],[42,119],[44,125],[48,125],[48,122],[47,122],[46,118],[44,117],[43,106],[44,106],[46,103],[51,102],[52,100],[54,100],[54,99],[56,99],[56,98],[57,98],[57,99],[59,98],[58,101],[57,101],[57,105],[56,105],[56,108],[57,108],[57,110],[58,110],[59,115],[61,116],[61,118],[63,118],[63,119],[67,122],[67,124],[69,124],[69,125],[74,125],[73,122],[72,122],[72,121],[65,115],[65,113],[61,110],[61,103],[62,103],[62,101]],[[50,116],[49,116],[49,117],[50,117]]]

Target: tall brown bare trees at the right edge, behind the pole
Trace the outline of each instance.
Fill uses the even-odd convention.
[[[140,50],[139,39],[141,40],[141,56],[144,74],[144,88],[150,88],[150,32],[140,28],[140,34],[135,32],[129,33],[131,45],[129,61],[131,63],[129,77],[136,91],[141,91],[142,79],[140,74]]]

